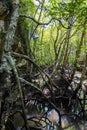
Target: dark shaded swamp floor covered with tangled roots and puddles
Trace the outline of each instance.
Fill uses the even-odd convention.
[[[53,66],[41,67],[31,76],[19,69],[22,98],[11,76],[12,87],[1,92],[1,127],[7,119],[7,130],[82,130],[87,120],[86,75],[71,65],[59,66],[51,77],[52,71]]]

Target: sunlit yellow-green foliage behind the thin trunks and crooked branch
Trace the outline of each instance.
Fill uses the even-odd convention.
[[[36,0],[20,1],[20,13],[26,14],[27,16],[32,16],[36,20],[38,20],[39,16],[41,15],[39,22],[48,22],[52,17],[61,19],[61,23],[59,23],[59,21],[56,20],[44,26],[37,26],[37,24],[31,19],[19,19],[19,23],[21,23],[22,26],[22,31],[24,31],[26,35],[28,35],[28,31],[30,29],[34,31],[35,27],[37,26],[35,33],[38,34],[39,37],[36,39],[36,45],[34,43],[35,41],[33,37],[31,38],[31,42],[29,43],[32,53],[34,53],[35,55],[35,57],[33,57],[33,60],[40,65],[53,63],[56,55],[54,50],[54,44],[56,44],[57,53],[59,48],[61,48],[59,51],[59,56],[62,52],[65,54],[65,50],[63,50],[63,47],[64,45],[65,47],[67,46],[67,40],[65,39],[67,38],[67,27],[69,26],[69,22],[71,22],[72,25],[67,50],[69,51],[69,62],[74,63],[76,50],[78,49],[81,41],[81,34],[83,28],[84,26],[85,29],[87,28],[87,1],[64,0],[63,2],[62,0],[48,0],[45,1],[42,12],[40,12],[42,7],[42,1],[38,4],[35,3]],[[56,40],[58,26],[59,32]],[[85,44],[82,44],[81,46],[81,55],[84,55],[84,53],[86,53],[87,50],[86,40],[84,42]]]

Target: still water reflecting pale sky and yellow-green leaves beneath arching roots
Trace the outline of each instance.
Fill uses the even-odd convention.
[[[38,107],[36,107],[37,105]],[[32,112],[34,116],[34,118],[32,118],[32,122],[34,123],[31,123],[31,120],[29,119],[28,124],[29,126],[33,124],[35,128],[38,128],[39,126],[41,130],[87,130],[86,121],[82,121],[82,119],[80,119],[79,116],[78,118],[76,118],[77,116],[75,115],[70,116],[66,114],[65,111],[63,110],[60,110],[61,127],[59,126],[59,115],[55,109],[51,109],[49,108],[49,106],[43,107],[42,104],[37,103],[35,104],[35,107],[32,108],[31,110],[30,107],[28,108],[27,113],[28,118],[31,118]]]

